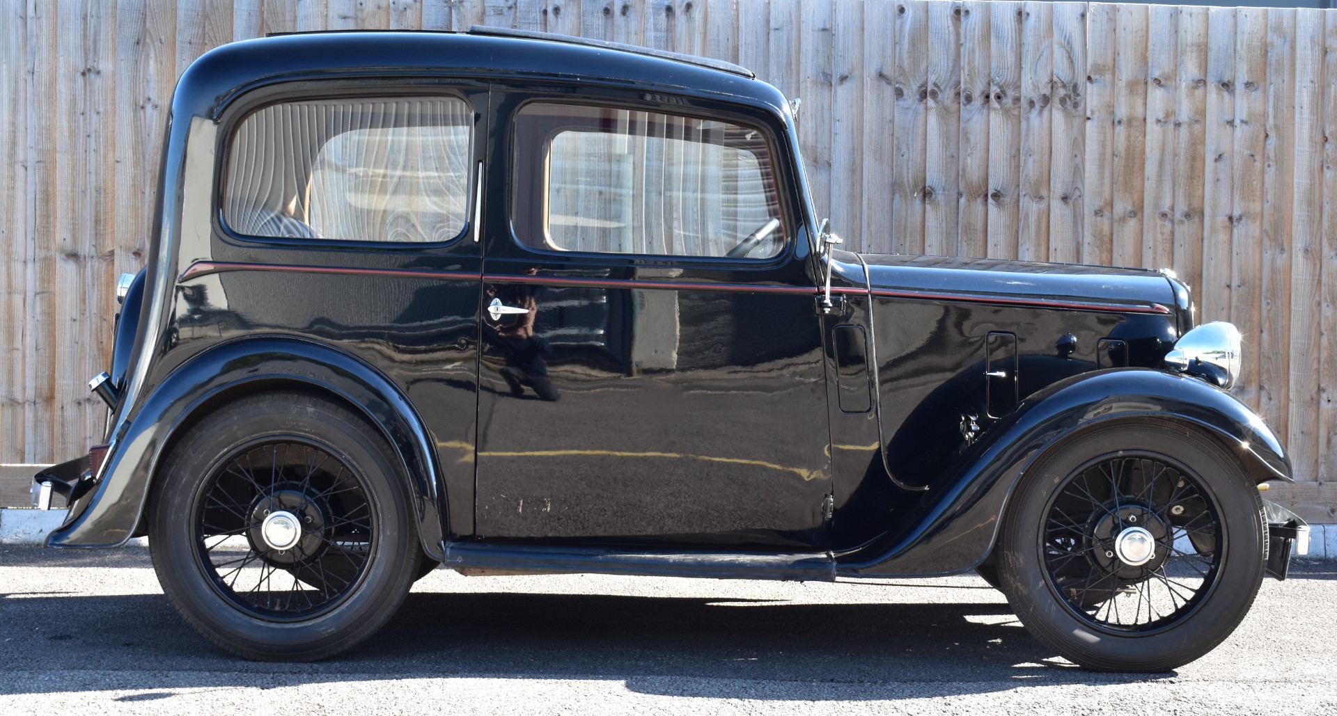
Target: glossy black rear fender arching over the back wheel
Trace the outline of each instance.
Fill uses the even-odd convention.
[[[143,514],[164,446],[198,410],[231,394],[285,385],[334,394],[381,430],[409,474],[422,549],[440,560],[444,496],[437,490],[433,442],[417,411],[389,379],[357,358],[310,341],[279,337],[215,346],[148,390],[112,437],[102,480],[71,505],[66,522],[47,537],[47,546],[124,544]]]

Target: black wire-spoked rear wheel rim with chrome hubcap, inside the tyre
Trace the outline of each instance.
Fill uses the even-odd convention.
[[[222,456],[201,482],[193,544],[231,606],[271,621],[325,613],[374,553],[370,489],[333,448],[271,435]]]

